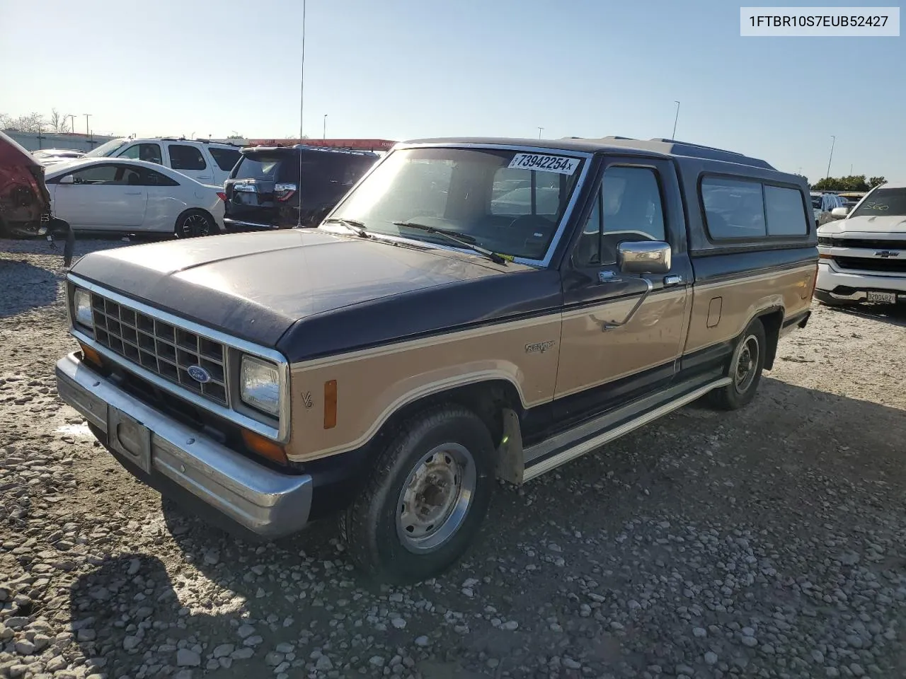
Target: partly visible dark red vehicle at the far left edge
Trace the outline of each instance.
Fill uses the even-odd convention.
[[[25,148],[0,132],[0,237],[66,238],[65,265],[72,257],[72,230],[51,214],[44,168]]]

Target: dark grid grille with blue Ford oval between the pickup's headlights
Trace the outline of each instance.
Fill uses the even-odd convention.
[[[107,349],[173,384],[226,406],[226,347],[92,292],[94,337]],[[201,383],[188,368],[204,368]]]

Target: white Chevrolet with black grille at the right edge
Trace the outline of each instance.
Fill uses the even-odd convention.
[[[844,218],[818,228],[815,299],[906,302],[906,184],[882,184],[833,215]]]

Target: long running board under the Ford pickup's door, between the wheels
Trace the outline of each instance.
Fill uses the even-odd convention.
[[[590,453],[594,449],[600,448],[602,445],[610,443],[615,438],[620,438],[620,436],[622,435],[629,434],[631,431],[638,429],[640,426],[645,426],[650,422],[653,422],[654,420],[665,416],[668,413],[677,410],[678,408],[681,408],[682,406],[686,406],[697,398],[703,397],[713,389],[726,387],[728,384],[730,384],[731,381],[732,380],[730,378],[719,378],[712,382],[708,382],[708,384],[704,385],[703,387],[698,387],[692,391],[689,391],[669,401],[668,403],[665,403],[662,406],[658,406],[653,410],[648,410],[640,416],[636,416],[631,420],[623,422],[621,425],[614,426],[612,429],[606,428],[606,425],[604,425],[599,428],[599,431],[605,428],[606,430],[603,431],[602,434],[593,436],[593,438],[586,438],[582,434],[579,434],[576,437],[582,437],[581,441],[578,441],[574,445],[570,445],[569,447],[564,448],[562,452],[554,454],[550,457],[545,457],[546,451],[541,450],[544,448],[549,448],[549,442],[545,441],[526,448],[524,454],[524,459],[526,461],[538,458],[541,459],[538,459],[538,462],[536,462],[535,464],[531,464],[530,466],[525,467],[525,472],[523,473],[522,480],[523,482],[531,481],[535,477],[540,476],[543,473],[550,472],[552,469],[559,467],[561,464],[566,464],[567,462],[574,460],[576,457],[581,457],[583,454]],[[633,408],[631,406],[627,406],[626,409],[622,412],[625,415],[626,411],[631,411],[632,409]],[[619,421],[619,417],[620,412],[618,411],[617,413],[612,413],[607,417],[607,419],[610,420],[611,423],[613,423],[614,420]]]

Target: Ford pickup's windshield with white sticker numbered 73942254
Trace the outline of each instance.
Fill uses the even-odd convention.
[[[410,148],[394,151],[331,215],[375,234],[449,245],[431,226],[495,253],[542,260],[583,160],[556,151]]]

